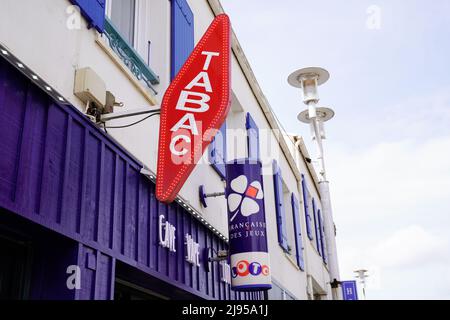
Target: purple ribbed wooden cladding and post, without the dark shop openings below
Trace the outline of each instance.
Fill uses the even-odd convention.
[[[222,240],[179,204],[159,203],[136,159],[3,59],[0,134],[0,206],[81,243],[95,270],[84,267],[79,299],[111,297],[114,259],[202,298],[244,297],[220,281],[217,262],[206,272],[203,257],[199,268],[185,261],[186,233],[200,250],[226,249]],[[160,214],[177,229],[176,253],[159,246]]]

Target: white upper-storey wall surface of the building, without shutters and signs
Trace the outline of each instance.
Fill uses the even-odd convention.
[[[170,80],[170,1],[148,0],[138,1],[139,26],[136,49],[147,60],[147,42],[152,42],[150,66],[160,76],[161,84],[156,86],[159,94],[155,97],[160,102]],[[189,0],[195,16],[195,39],[198,41],[214,18],[206,0]],[[151,102],[143,95],[127,75],[119,68],[97,42],[98,34],[93,29],[87,30],[85,20],[81,20],[79,30],[66,27],[69,1],[65,0],[2,0],[0,4],[0,41],[30,68],[56,88],[75,107],[84,111],[82,102],[73,95],[74,73],[77,68],[91,67],[106,82],[107,89],[113,92],[119,101],[124,102],[123,110],[149,106]],[[17,19],[21,17],[21,19]],[[238,60],[232,57],[232,111],[227,124],[229,129],[238,132],[228,133],[228,159],[247,156],[247,136],[245,131],[245,115],[250,112],[260,129],[261,156],[264,162],[264,191],[267,233],[271,255],[272,276],[293,293],[298,299],[306,299],[306,272],[302,272],[295,264],[295,242],[290,236],[293,255],[286,255],[277,241],[277,228],[273,192],[272,159],[277,159],[283,174],[289,201],[289,224],[292,224],[290,211],[290,193],[294,192],[302,201],[299,182],[283,155],[274,133],[267,131],[270,125],[245,78]],[[139,118],[137,118],[139,119]],[[135,119],[122,119],[110,125],[130,123]],[[110,129],[109,134],[131,152],[147,167],[156,172],[156,154],[158,148],[158,118],[153,117],[139,125],[127,129]],[[239,131],[240,130],[240,131]],[[270,149],[270,150],[268,150]],[[294,151],[295,152],[295,151]],[[297,151],[298,152],[298,151]],[[180,195],[200,211],[213,226],[223,234],[227,232],[227,212],[224,197],[209,198],[208,208],[202,208],[198,199],[199,185],[205,185],[207,192],[223,191],[224,182],[206,161],[199,164],[192,172]],[[299,169],[306,174],[311,193],[319,199],[313,180],[306,169],[304,161],[298,161]],[[306,236],[303,204],[301,208],[301,224],[308,272],[321,287],[327,288],[329,276],[315,249]],[[290,226],[290,230],[293,228]],[[291,231],[293,232],[293,231]]]

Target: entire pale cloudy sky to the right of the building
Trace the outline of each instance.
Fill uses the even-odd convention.
[[[283,126],[308,143],[286,79],[331,73],[320,96],[336,112],[325,160],[342,279],[366,268],[369,299],[450,299],[450,1],[221,2]]]

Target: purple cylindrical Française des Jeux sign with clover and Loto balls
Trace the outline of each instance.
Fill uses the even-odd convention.
[[[231,287],[238,291],[268,290],[272,281],[261,163],[235,160],[227,163],[226,171]]]

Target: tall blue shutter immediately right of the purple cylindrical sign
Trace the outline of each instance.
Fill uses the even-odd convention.
[[[286,233],[286,213],[283,204],[283,180],[281,170],[276,160],[273,160],[273,183],[275,192],[275,213],[277,215],[278,243],[283,250],[288,251]]]

